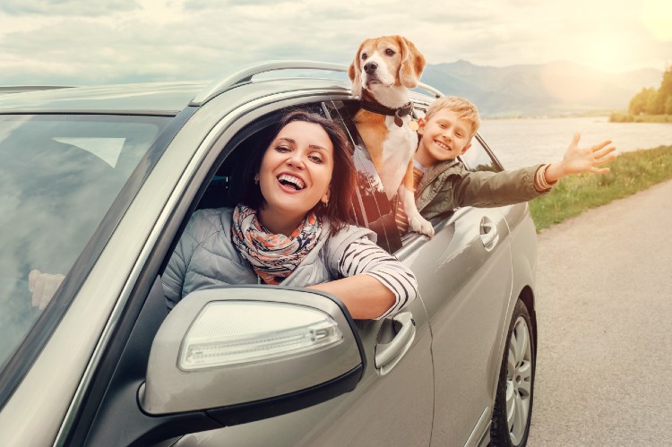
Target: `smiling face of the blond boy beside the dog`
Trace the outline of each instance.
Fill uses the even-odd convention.
[[[443,108],[428,120],[418,120],[421,135],[416,159],[424,166],[455,159],[471,146],[471,124]]]

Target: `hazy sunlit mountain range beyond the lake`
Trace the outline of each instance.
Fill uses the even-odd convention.
[[[460,60],[427,64],[422,82],[470,99],[481,116],[555,116],[625,110],[642,88],[658,88],[662,73],[608,73],[565,61],[494,67]]]

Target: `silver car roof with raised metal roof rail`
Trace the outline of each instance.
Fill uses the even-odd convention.
[[[299,75],[290,77],[290,73]],[[237,87],[258,84],[244,97],[270,94],[271,91],[331,90],[349,91],[349,80],[323,78],[315,72],[346,76],[346,65],[314,61],[266,61],[233,70],[214,82],[146,82],[92,87],[17,86],[0,89],[0,115],[15,113],[111,113],[174,116],[188,106],[202,106],[212,98]],[[264,79],[263,73],[283,77]],[[254,78],[254,79],[253,79]],[[265,84],[263,87],[261,84]],[[440,94],[425,84],[420,87]],[[256,93],[254,92],[256,90]],[[242,93],[242,92],[241,92]],[[234,95],[235,97],[236,95]],[[233,98],[232,98],[233,99]],[[243,98],[240,98],[243,99]],[[249,100],[249,98],[247,98]],[[235,99],[234,99],[235,100]]]

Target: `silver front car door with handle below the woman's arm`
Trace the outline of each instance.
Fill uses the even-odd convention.
[[[331,102],[309,107],[343,125]],[[231,157],[235,156],[233,150]],[[382,220],[377,199],[381,193],[384,196],[376,186],[377,174],[361,151],[355,157],[359,189],[353,209],[358,223],[382,231],[381,246],[394,245],[392,237],[398,241],[399,236],[391,233],[388,240],[385,230],[377,225]],[[383,321],[360,321],[358,330],[367,366],[354,391],[280,417],[187,435],[177,445],[428,445],[434,377],[431,336],[422,300],[418,297],[401,313]]]

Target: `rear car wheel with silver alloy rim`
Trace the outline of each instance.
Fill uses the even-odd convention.
[[[506,335],[499,373],[490,445],[522,446],[530,434],[534,390],[535,349],[527,307],[518,300]]]

